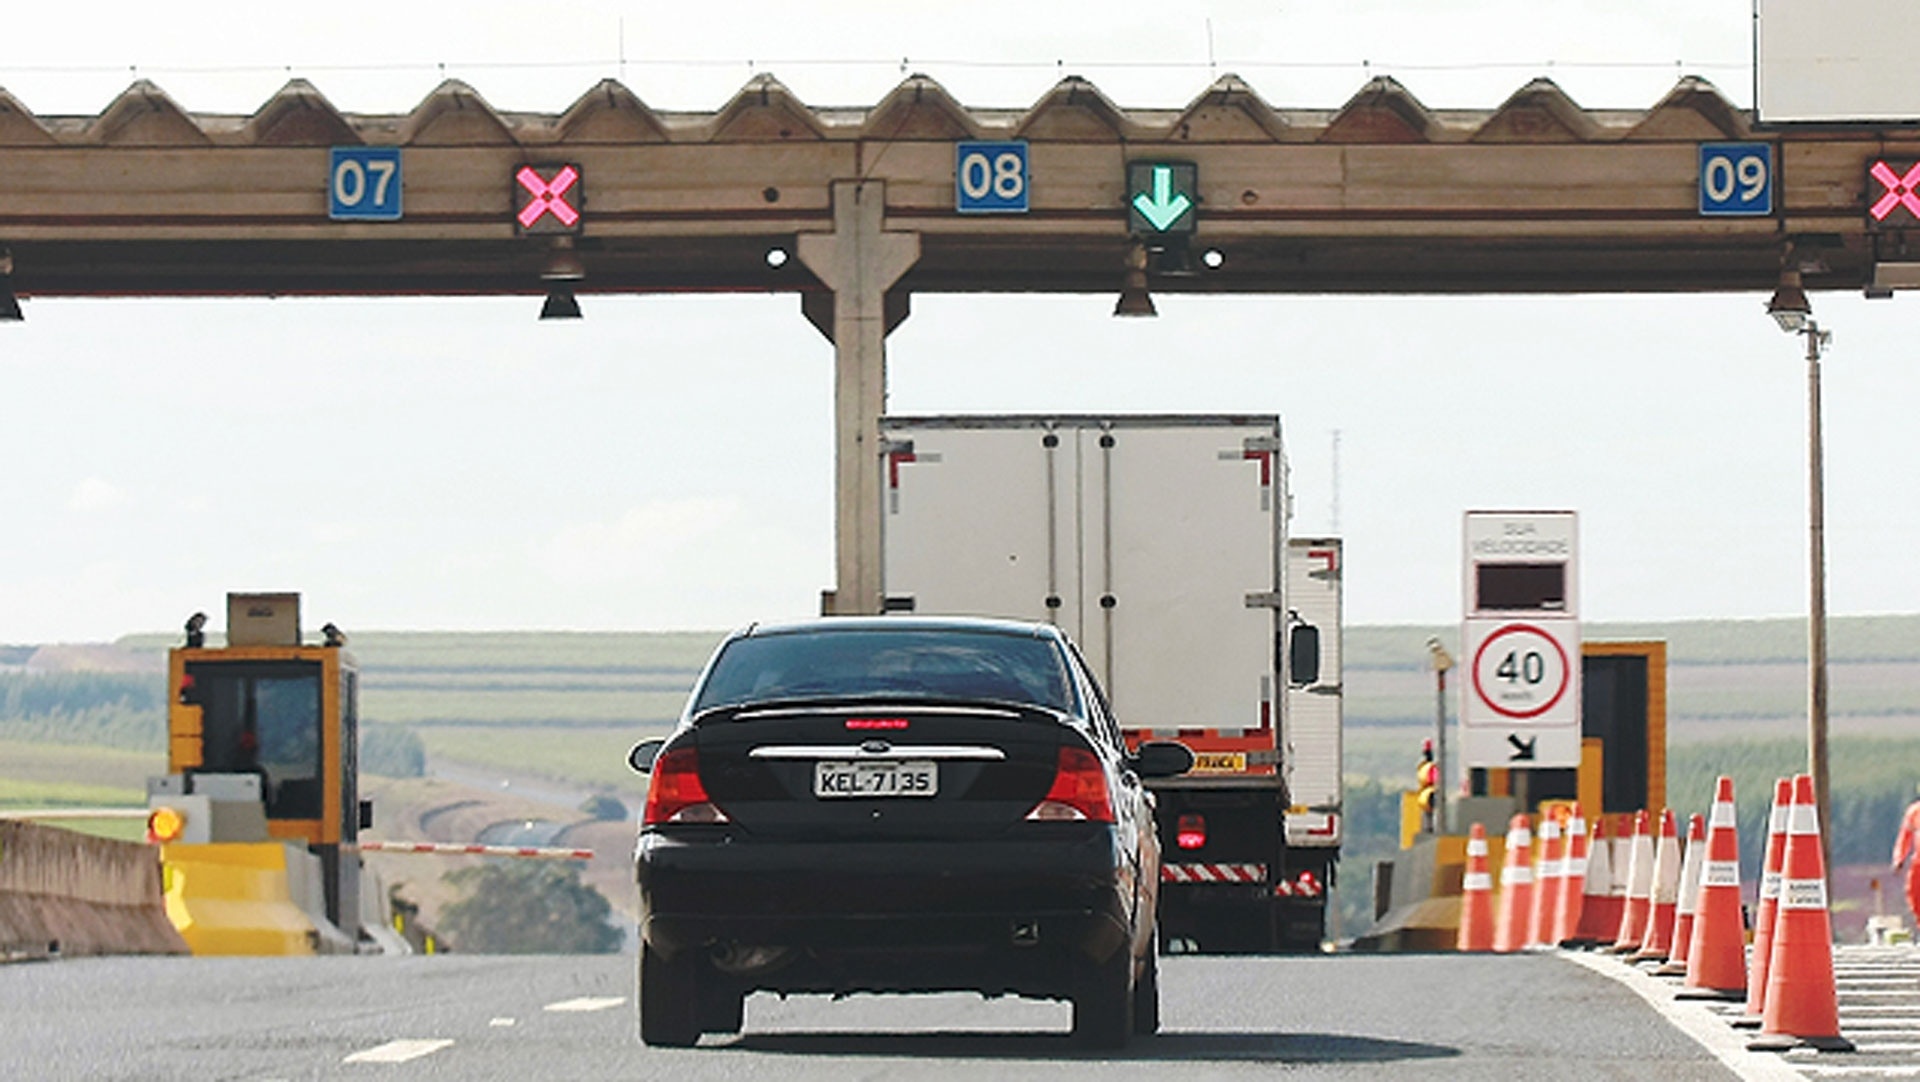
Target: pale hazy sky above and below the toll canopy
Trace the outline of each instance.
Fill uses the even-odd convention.
[[[10,13],[0,86],[92,115],[148,77],[250,113],[300,75],[397,113],[459,77],[557,111],[622,77],[655,107],[716,109],[756,71],[870,106],[904,65],[973,106],[1077,73],[1177,107],[1235,71],[1283,107],[1390,73],[1442,107],[1549,75],[1582,106],[1645,109],[1684,71],[1751,102],[1749,0],[726,10],[96,4],[75,33],[40,6]],[[1296,531],[1332,526],[1338,430],[1354,622],[1457,620],[1469,506],[1576,508],[1596,620],[1795,614],[1805,365],[1764,299],[1164,295],[1158,320],[1114,320],[1112,295],[920,295],[889,405],[1279,412]],[[831,349],[799,301],[582,303],[540,324],[526,297],[29,299],[0,324],[0,643],[175,627],[228,589],[298,589],[309,623],[348,629],[812,612],[833,577]],[[1912,301],[1814,305],[1836,334],[1832,608],[1920,610]]]

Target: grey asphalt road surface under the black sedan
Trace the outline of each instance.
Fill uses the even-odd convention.
[[[1171,957],[1165,1028],[1117,1055],[1073,1047],[1064,1003],[977,996],[755,996],[743,1034],[649,1049],[632,994],[622,955],[0,965],[0,1076],[1734,1076],[1630,990],[1553,955]]]

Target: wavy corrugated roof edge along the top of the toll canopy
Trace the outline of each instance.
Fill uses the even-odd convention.
[[[1496,109],[1430,109],[1394,79],[1373,79],[1338,109],[1281,109],[1223,75],[1179,109],[1123,109],[1068,77],[1027,109],[970,109],[925,75],[870,107],[814,107],[772,75],[712,113],[649,107],[607,79],[563,113],[501,111],[445,81],[409,113],[342,113],[294,79],[252,115],[188,113],[148,81],[92,117],[38,117],[0,88],[0,146],[574,146],[645,142],[958,140],[1461,144],[1670,142],[1745,138],[1751,115],[1703,79],[1680,79],[1645,111],[1582,109],[1553,81],[1521,86]]]

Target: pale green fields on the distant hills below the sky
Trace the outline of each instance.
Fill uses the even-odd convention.
[[[1668,643],[1676,748],[1793,741],[1805,731],[1801,620],[1588,623],[1584,633]],[[1428,635],[1457,645],[1459,625],[1344,631],[1348,773],[1398,785],[1411,769],[1434,712]],[[718,639],[718,631],[365,631],[351,635],[349,650],[363,673],[361,716],[409,725],[430,756],[618,787],[628,783],[626,748],[670,723]],[[134,635],[119,645],[157,654],[175,643],[177,635]],[[6,679],[33,677],[0,673]],[[1453,687],[1448,712],[1459,712]],[[1836,739],[1920,729],[1920,616],[1834,618],[1832,716]],[[0,777],[138,790],[161,769],[157,721],[138,741],[121,729],[121,744],[150,741],[152,754],[38,752],[84,742],[84,723],[0,716]]]

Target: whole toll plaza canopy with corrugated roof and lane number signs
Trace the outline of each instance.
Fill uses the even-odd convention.
[[[970,109],[925,77],[872,107],[758,77],[712,113],[607,81],[559,115],[463,82],[355,115],[305,81],[205,115],[142,81],[94,117],[0,90],[0,274],[10,253],[21,295],[829,294],[847,284],[799,240],[847,236],[864,203],[912,240],[879,282],[897,294],[1114,292],[1146,247],[1156,292],[1764,295],[1786,259],[1807,288],[1905,259],[1912,159],[1914,129],[1759,130],[1699,79],[1644,111],[1549,81],[1457,111],[1392,79],[1338,109],[1235,77],[1185,107],[1064,79]]]

